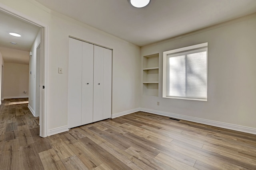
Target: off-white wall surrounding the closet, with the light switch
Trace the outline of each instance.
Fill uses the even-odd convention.
[[[51,12],[34,0],[0,0],[0,3],[2,8],[12,8],[49,26],[48,110],[45,111],[48,130],[68,124],[69,35],[113,49],[112,113],[140,107],[140,47]],[[63,74],[58,74],[58,67],[63,68]]]

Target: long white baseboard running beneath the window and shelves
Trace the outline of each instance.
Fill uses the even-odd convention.
[[[176,118],[176,119],[182,119],[182,120],[192,121],[192,122],[196,122],[196,123],[202,123],[202,124],[205,124],[205,125],[222,127],[222,128],[225,128],[225,129],[231,129],[231,130],[235,130],[235,131],[251,133],[251,134],[256,135],[256,129],[251,128],[251,127],[232,125],[232,124],[229,124],[229,123],[222,123],[222,122],[218,122],[218,121],[211,121],[211,120],[200,119],[200,118],[195,118],[195,117],[190,117],[190,116],[177,115],[177,114],[173,114],[173,113],[168,113],[168,112],[164,112],[164,111],[157,111],[157,110],[152,110],[152,109],[140,108],[140,111],[145,111],[145,112],[148,112],[148,113],[154,113],[156,115],[163,115],[163,116],[173,117],[173,118]]]

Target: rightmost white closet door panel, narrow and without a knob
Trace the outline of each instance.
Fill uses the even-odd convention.
[[[103,119],[112,115],[112,50],[104,49]]]

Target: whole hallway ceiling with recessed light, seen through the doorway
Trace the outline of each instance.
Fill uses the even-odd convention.
[[[40,27],[0,12],[0,52],[7,63],[28,64],[29,53]],[[19,33],[14,37],[10,32]],[[12,45],[10,42],[17,43]],[[2,48],[5,47],[5,48]],[[12,51],[12,49],[15,49]],[[26,55],[26,59],[24,55]],[[14,56],[15,55],[15,56]]]

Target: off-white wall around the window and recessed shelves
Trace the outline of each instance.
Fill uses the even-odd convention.
[[[208,42],[208,101],[162,98],[163,51]],[[141,56],[159,53],[159,97],[142,96],[141,107],[198,121],[256,130],[256,16],[201,33],[147,45]],[[141,86],[142,88],[142,86]],[[160,102],[160,106],[157,106]],[[203,119],[203,120],[202,120]],[[210,122],[209,121],[209,122]]]

